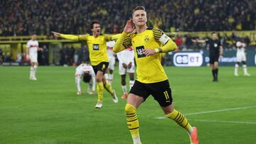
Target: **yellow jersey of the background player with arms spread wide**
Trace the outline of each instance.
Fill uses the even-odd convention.
[[[60,37],[69,40],[86,40],[89,49],[89,56],[91,65],[98,65],[100,62],[108,62],[107,56],[107,41],[116,40],[120,34],[107,35],[101,34],[97,37],[94,35],[64,35],[60,34]]]

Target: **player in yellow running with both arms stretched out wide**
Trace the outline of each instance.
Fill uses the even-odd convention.
[[[106,82],[104,74],[109,65],[107,57],[107,41],[117,39],[119,35],[107,35],[100,33],[100,23],[97,21],[92,21],[91,23],[92,35],[65,35],[63,33],[52,32],[55,37],[61,37],[68,40],[85,40],[87,41],[87,46],[89,49],[90,62],[93,70],[96,74],[97,81],[97,104],[95,108],[102,108],[102,98],[104,88],[112,95],[114,103],[118,102],[117,96],[112,90],[110,84]]]

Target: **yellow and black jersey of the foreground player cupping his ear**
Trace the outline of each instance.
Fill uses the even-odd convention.
[[[161,47],[161,44],[164,46]],[[114,45],[114,52],[119,52],[132,46],[137,62],[137,81],[144,84],[162,82],[167,78],[161,65],[161,53],[177,48],[169,36],[158,28],[147,28],[142,33],[122,33]],[[155,55],[144,55],[144,49],[153,49]]]

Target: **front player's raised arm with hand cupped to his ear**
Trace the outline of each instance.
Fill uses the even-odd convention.
[[[117,39],[117,43],[114,44],[113,52],[120,52],[126,48],[129,48],[132,46],[131,43],[131,37],[128,35],[129,33],[132,33],[134,31],[132,19],[127,21],[127,24],[124,27],[124,31],[119,35],[119,38]]]

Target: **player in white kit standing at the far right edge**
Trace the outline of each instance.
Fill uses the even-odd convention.
[[[236,53],[237,62],[235,63],[235,76],[239,76],[238,75],[238,67],[241,62],[242,62],[242,68],[243,68],[244,75],[250,76],[250,74],[248,74],[248,72],[247,72],[247,66],[246,66],[246,56],[245,56],[246,44],[238,41],[237,43],[235,43],[235,45],[237,47],[237,53]]]

